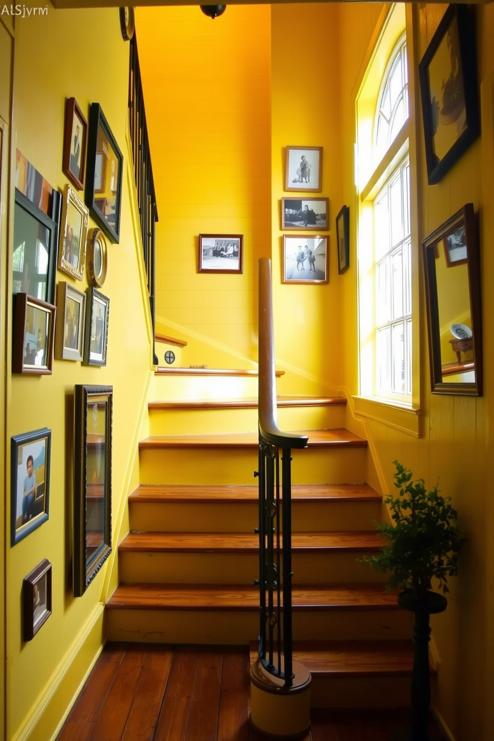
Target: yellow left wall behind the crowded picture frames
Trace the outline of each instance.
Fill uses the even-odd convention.
[[[110,298],[106,367],[55,360],[51,376],[10,378],[10,362],[7,363],[6,438],[2,448],[2,456],[7,459],[7,523],[10,436],[45,426],[52,431],[50,517],[13,547],[10,529],[4,531],[7,741],[50,739],[96,659],[104,639],[104,599],[116,583],[112,569],[119,527],[125,520],[124,504],[128,491],[137,482],[132,451],[136,450],[138,423],[150,379],[152,330],[131,208],[133,181],[127,173],[128,54],[129,44],[121,38],[117,8],[72,11],[50,7],[47,16],[16,22],[16,147],[51,185],[63,190],[67,182],[61,172],[65,97],[75,96],[86,116],[90,103],[99,102],[124,153],[124,177],[121,239],[119,245],[108,242],[107,279],[101,288]],[[91,220],[90,226],[95,226]],[[10,312],[10,285],[6,286],[6,278],[10,283],[8,270],[7,276],[2,275],[1,295],[2,305]],[[56,279],[71,282],[81,290],[87,288],[85,273],[82,282],[61,272],[57,272]],[[73,597],[71,586],[74,384],[113,386],[114,551],[79,598]],[[53,614],[33,640],[24,643],[22,579],[44,558],[53,565]]]

